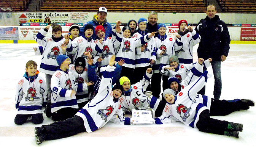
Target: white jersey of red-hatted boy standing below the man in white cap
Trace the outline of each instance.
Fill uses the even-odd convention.
[[[114,45],[113,45],[113,38],[112,37],[105,37],[103,40],[103,44],[99,43],[97,39],[97,45],[94,50],[94,56],[96,59],[102,58],[104,59],[99,63],[99,68],[102,66],[107,66],[111,57],[114,55]]]

